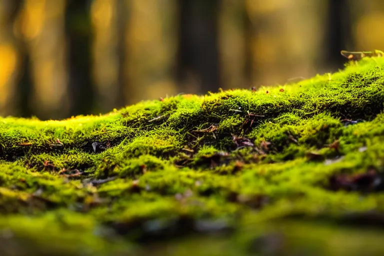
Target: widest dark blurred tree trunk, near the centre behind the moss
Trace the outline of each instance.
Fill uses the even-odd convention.
[[[217,42],[217,10],[220,2],[178,0],[176,77],[179,83],[186,85],[184,92],[214,92],[220,86]]]

